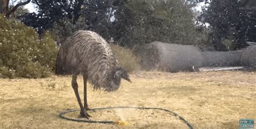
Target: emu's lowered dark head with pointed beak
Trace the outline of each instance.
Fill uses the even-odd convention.
[[[106,91],[117,90],[120,86],[122,78],[131,83],[131,80],[130,80],[127,72],[122,67],[117,67],[116,69],[114,69],[112,71],[111,77],[110,77],[110,85],[108,87],[106,87],[105,90]]]

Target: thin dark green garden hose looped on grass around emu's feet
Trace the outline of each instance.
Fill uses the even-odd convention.
[[[185,120],[183,117],[180,117],[177,113],[172,112],[170,110],[166,110],[164,108],[156,108],[156,107],[127,107],[127,106],[118,106],[118,107],[102,107],[102,108],[93,108],[92,111],[95,110],[105,110],[105,109],[114,109],[114,108],[135,108],[135,109],[142,109],[142,110],[161,110],[165,112],[171,112],[173,113],[173,116],[178,117],[181,121],[183,121],[190,129],[193,129],[193,127],[188,123],[187,120]],[[85,122],[85,123],[102,123],[102,124],[115,124],[115,121],[95,121],[95,120],[82,120],[82,119],[72,119],[68,117],[64,117],[63,115],[69,112],[76,112],[80,110],[71,110],[71,111],[65,111],[61,112],[59,114],[60,118],[66,119],[66,120],[71,120],[71,121],[77,121],[77,122]]]

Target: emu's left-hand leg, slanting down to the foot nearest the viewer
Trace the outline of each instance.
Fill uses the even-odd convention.
[[[72,87],[73,87],[73,90],[75,91],[77,101],[78,101],[78,104],[80,106],[80,116],[79,117],[89,119],[89,116],[87,116],[86,110],[83,107],[83,104],[81,102],[81,99],[80,99],[80,96],[79,96],[79,93],[78,93],[77,75],[72,76]]]

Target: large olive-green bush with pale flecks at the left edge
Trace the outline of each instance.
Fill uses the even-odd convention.
[[[36,31],[0,16],[0,77],[48,77],[54,67],[57,48],[50,33],[42,40]]]

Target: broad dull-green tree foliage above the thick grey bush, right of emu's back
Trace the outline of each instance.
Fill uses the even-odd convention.
[[[153,41],[197,44],[193,17],[190,7],[181,1],[130,1],[117,11],[114,39],[121,45]],[[120,34],[123,36],[117,37]]]

